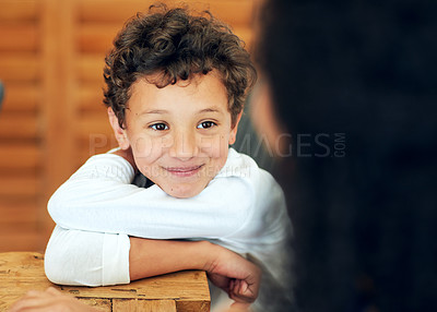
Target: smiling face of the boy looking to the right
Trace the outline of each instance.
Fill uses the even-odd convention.
[[[226,88],[212,72],[164,88],[139,79],[121,131],[120,147],[132,148],[145,177],[172,196],[191,197],[223,168],[237,124],[232,128]]]

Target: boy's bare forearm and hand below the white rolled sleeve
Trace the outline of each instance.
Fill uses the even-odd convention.
[[[250,303],[257,299],[260,269],[223,247],[208,241],[150,240],[133,237],[130,238],[130,243],[131,280],[184,269],[202,269],[214,276],[211,280],[236,302]],[[153,265],[147,265],[149,263]]]

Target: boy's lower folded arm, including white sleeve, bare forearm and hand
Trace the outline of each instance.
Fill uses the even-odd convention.
[[[177,272],[204,269],[236,301],[256,299],[260,271],[240,255],[206,241],[150,240],[57,226],[45,254],[55,284],[107,286]]]

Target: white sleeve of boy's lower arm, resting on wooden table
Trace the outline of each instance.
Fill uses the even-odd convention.
[[[60,285],[130,283],[130,241],[126,235],[68,230],[56,226],[47,244],[47,278]]]

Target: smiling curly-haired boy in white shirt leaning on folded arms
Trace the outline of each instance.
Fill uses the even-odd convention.
[[[228,148],[255,79],[240,40],[212,17],[162,8],[127,23],[105,68],[119,149],[91,157],[50,199],[48,278],[99,286],[201,268],[233,300],[251,302],[258,268],[238,253],[265,276],[253,309],[265,309],[268,289],[282,293],[283,193]],[[131,184],[137,171],[149,188]]]

